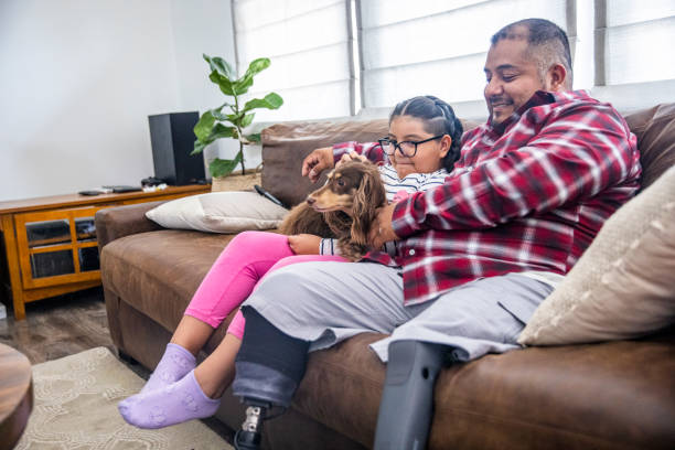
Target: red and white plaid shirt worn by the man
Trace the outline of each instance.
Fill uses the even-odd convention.
[[[335,147],[373,161],[376,143]],[[567,274],[639,188],[635,136],[608,104],[583,92],[537,92],[502,124],[462,137],[456,169],[437,189],[399,202],[393,227],[406,304],[464,282],[526,270]]]

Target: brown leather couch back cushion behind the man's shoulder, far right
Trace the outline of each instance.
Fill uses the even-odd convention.
[[[675,164],[675,104],[664,104],[625,116],[638,138],[642,189]]]

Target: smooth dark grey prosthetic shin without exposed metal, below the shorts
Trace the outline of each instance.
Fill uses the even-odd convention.
[[[389,361],[375,450],[422,450],[433,414],[433,384],[443,362],[443,346],[417,341],[389,345]]]

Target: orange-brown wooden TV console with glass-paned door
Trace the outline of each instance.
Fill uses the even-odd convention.
[[[25,303],[100,285],[94,215],[104,207],[171,200],[211,191],[211,184],[156,192],[55,195],[0,202],[0,298],[11,294],[14,318]],[[2,266],[6,267],[2,267]],[[4,286],[2,286],[4,285]],[[2,288],[6,289],[2,289]]]

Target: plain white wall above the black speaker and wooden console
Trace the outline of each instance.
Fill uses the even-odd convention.
[[[221,101],[201,55],[234,61],[229,3],[0,1],[0,201],[153,174],[148,116]]]

